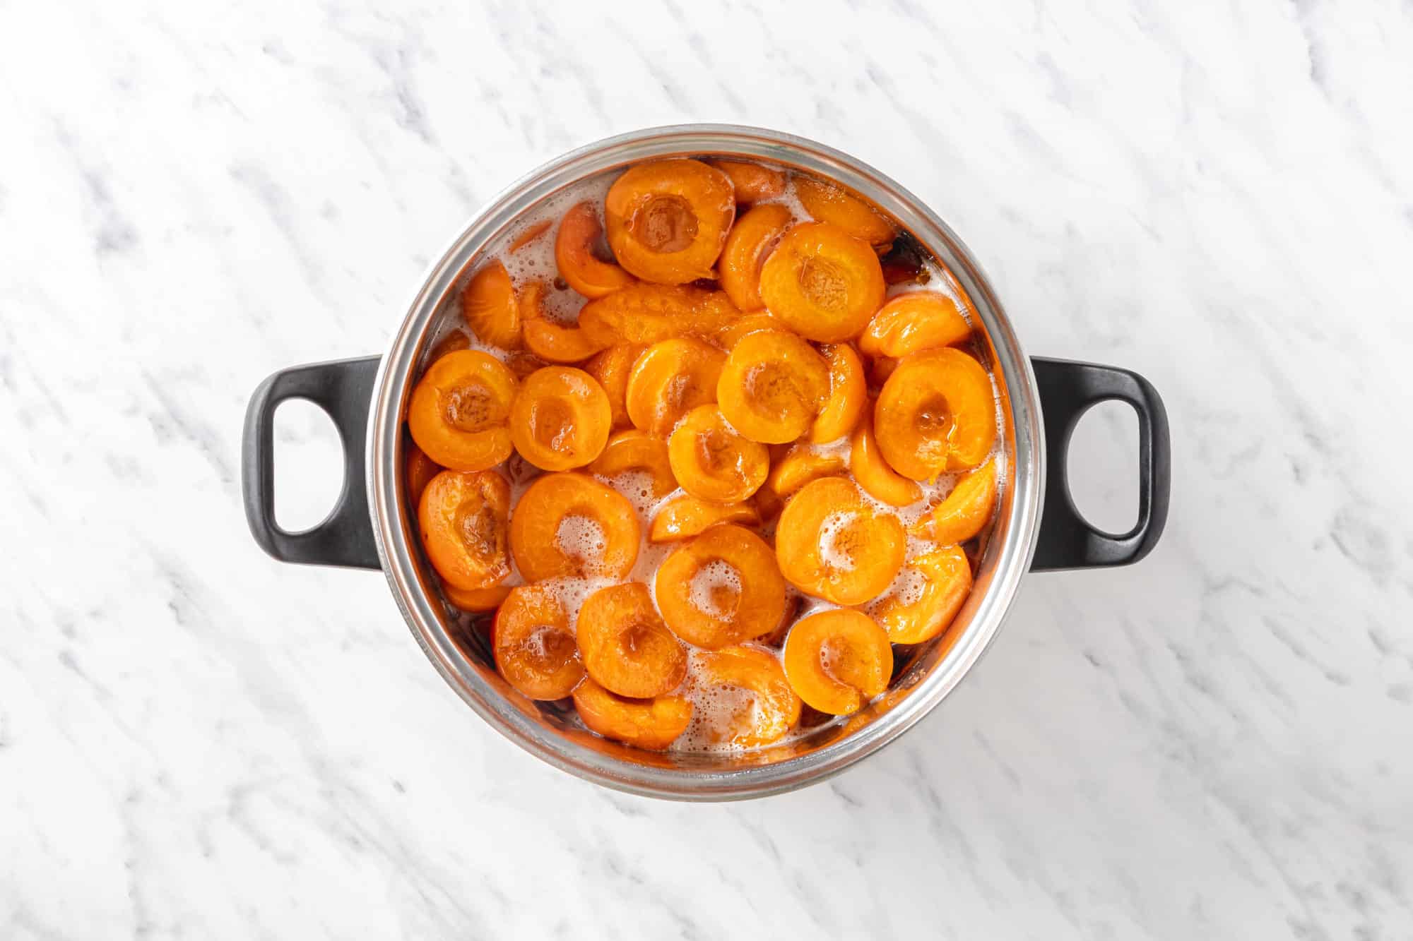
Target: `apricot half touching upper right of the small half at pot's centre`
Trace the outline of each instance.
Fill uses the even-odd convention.
[[[814,424],[829,391],[829,366],[794,333],[759,331],[736,341],[716,384],[726,421],[764,444],[794,441]]]

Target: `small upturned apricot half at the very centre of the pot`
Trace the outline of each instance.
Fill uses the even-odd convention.
[[[739,435],[716,406],[698,406],[667,439],[677,483],[695,497],[738,503],[760,489],[770,472],[766,445]]]

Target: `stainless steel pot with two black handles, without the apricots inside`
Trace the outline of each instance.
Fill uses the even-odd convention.
[[[731,154],[832,178],[862,194],[947,264],[971,295],[985,329],[1005,418],[1007,486],[955,625],[923,646],[893,688],[848,721],[800,743],[722,759],[654,754],[593,736],[557,711],[512,692],[496,674],[482,633],[441,605],[404,499],[403,417],[420,357],[482,249],[514,219],[586,177],[671,155]],[[343,437],[345,483],[332,514],[304,533],[274,521],[271,431],[276,407],[307,398]],[[1080,415],[1105,400],[1139,417],[1139,521],[1123,535],[1088,526],[1070,500],[1065,452]],[[1047,451],[1054,461],[1047,465]],[[801,137],[752,127],[654,127],[581,147],[520,179],[480,212],[432,264],[382,357],[281,370],[250,400],[243,451],[246,514],[256,541],[287,562],[382,568],[413,636],[442,678],[492,728],[550,764],[591,781],[675,800],[732,800],[824,780],[896,739],[941,702],[996,636],[1027,572],[1123,565],[1146,555],[1167,517],[1169,435],[1163,403],[1140,376],[1108,366],[1027,359],[975,259],[927,206],[872,167]]]

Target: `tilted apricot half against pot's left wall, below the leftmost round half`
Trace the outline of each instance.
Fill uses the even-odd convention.
[[[510,485],[495,470],[442,470],[422,490],[417,523],[432,568],[454,588],[489,588],[510,574]]]

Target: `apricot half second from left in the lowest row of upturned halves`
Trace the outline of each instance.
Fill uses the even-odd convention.
[[[579,608],[575,639],[589,678],[620,697],[651,699],[675,690],[687,675],[687,650],[642,582],[589,595]]]

